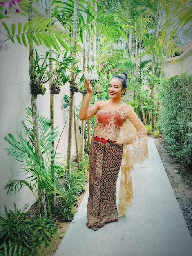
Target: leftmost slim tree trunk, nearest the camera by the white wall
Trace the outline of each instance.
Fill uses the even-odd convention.
[[[28,20],[31,21],[33,19],[33,4],[30,1],[31,7],[28,8]],[[34,48],[29,43],[29,76],[31,81],[31,67],[33,65],[34,59]],[[31,94],[31,108],[32,108],[32,118],[33,118],[33,132],[34,132],[34,144],[35,144],[35,154],[40,163],[40,167],[42,165],[42,155],[41,155],[41,143],[40,143],[40,130],[39,130],[39,116],[38,116],[38,101],[37,95]],[[39,208],[41,215],[45,215],[47,217],[46,210],[46,202],[45,202],[45,193],[44,189],[42,189],[42,185],[38,183],[38,196],[39,196]]]

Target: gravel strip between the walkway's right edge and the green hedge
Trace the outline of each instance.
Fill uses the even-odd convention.
[[[154,139],[172,189],[192,236],[192,167],[186,168],[183,164],[176,163],[167,154],[165,141],[161,137],[152,138]]]

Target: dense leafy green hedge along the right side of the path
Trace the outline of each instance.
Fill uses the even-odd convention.
[[[192,121],[192,76],[180,74],[158,85],[159,125],[167,142],[169,154],[177,161],[192,164],[192,137],[187,133]]]

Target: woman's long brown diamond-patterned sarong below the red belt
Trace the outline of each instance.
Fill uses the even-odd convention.
[[[87,227],[103,227],[118,221],[116,182],[123,148],[112,142],[92,139],[89,150],[89,199]]]

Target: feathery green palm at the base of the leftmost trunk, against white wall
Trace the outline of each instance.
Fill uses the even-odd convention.
[[[26,109],[27,118],[30,124],[33,124],[31,108]],[[26,180],[11,180],[7,182],[5,189],[8,189],[7,193],[12,194],[13,190],[20,190],[22,186],[28,186],[32,193],[36,196],[37,190],[42,189],[44,194],[47,194],[47,209],[48,215],[51,218],[51,195],[60,193],[57,191],[55,182],[63,173],[62,164],[56,162],[51,168],[51,161],[57,159],[57,153],[52,154],[52,141],[58,137],[58,127],[53,130],[50,129],[50,120],[43,116],[40,116],[40,144],[42,159],[41,163],[38,161],[36,154],[34,153],[34,131],[33,128],[28,128],[25,123],[23,126],[27,132],[29,140],[24,139],[22,135],[18,135],[18,141],[13,135],[8,134],[4,139],[11,144],[11,148],[5,148],[9,155],[12,155],[16,160],[25,163],[24,170],[31,175]],[[39,202],[39,198],[36,198]],[[40,208],[41,211],[41,208]],[[41,211],[41,213],[44,211]],[[46,214],[45,214],[46,215]]]

